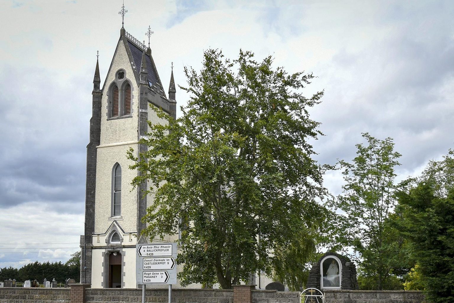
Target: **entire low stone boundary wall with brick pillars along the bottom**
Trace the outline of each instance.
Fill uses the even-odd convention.
[[[78,302],[142,302],[142,289],[85,288],[0,288],[0,303],[74,303],[70,293],[78,291]],[[79,293],[84,290],[84,297]],[[300,303],[299,292],[277,292],[249,288],[251,296],[242,289],[242,297],[252,303]],[[232,289],[173,289],[173,303],[234,303]],[[424,303],[420,291],[325,290],[325,303]],[[82,298],[82,300],[80,300]],[[247,299],[247,298],[241,298]],[[84,301],[83,301],[84,300]],[[168,302],[167,289],[147,289],[146,301]],[[247,300],[244,300],[247,301]]]

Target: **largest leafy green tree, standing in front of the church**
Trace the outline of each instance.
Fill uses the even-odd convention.
[[[181,117],[158,112],[168,123],[149,123],[148,151],[128,155],[141,172],[133,184],[148,180],[154,198],[143,233],[183,230],[183,285],[231,288],[262,270],[300,287],[294,277],[315,250],[324,212],[317,199],[326,167],[310,143],[321,133],[308,112],[323,93],[306,98],[313,75],[287,74],[250,52],[228,60],[207,50],[202,70],[185,73]]]

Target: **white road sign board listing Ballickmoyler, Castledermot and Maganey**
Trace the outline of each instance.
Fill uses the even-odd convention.
[[[136,245],[137,284],[177,283],[177,243]]]

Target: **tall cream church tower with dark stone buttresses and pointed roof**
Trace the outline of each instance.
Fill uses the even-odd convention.
[[[148,121],[166,123],[153,108],[176,118],[173,70],[167,98],[151,49],[122,27],[103,87],[99,62],[93,79],[90,141],[87,145],[84,235],[80,238],[81,283],[92,288],[136,288],[135,245],[141,218],[153,202],[130,184],[137,170],[126,152],[147,150],[139,140]],[[167,239],[172,240],[172,239]]]

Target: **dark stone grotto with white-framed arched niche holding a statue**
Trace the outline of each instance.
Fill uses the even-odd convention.
[[[309,271],[306,288],[359,289],[355,263],[338,253],[325,253]]]

